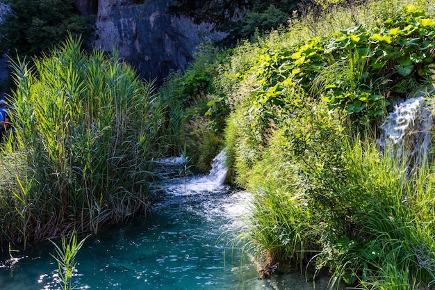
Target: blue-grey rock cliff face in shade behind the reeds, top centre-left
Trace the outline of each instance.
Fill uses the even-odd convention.
[[[97,13],[94,47],[104,51],[117,49],[144,79],[161,81],[170,70],[185,69],[199,43],[226,36],[213,31],[215,24],[198,24],[190,17],[171,15],[173,2],[76,0],[76,7],[83,15]]]

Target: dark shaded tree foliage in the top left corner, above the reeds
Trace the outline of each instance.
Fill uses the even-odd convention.
[[[68,31],[85,31],[87,19],[74,12],[74,0],[6,0],[11,13],[0,25],[0,52],[35,56],[63,42]]]

